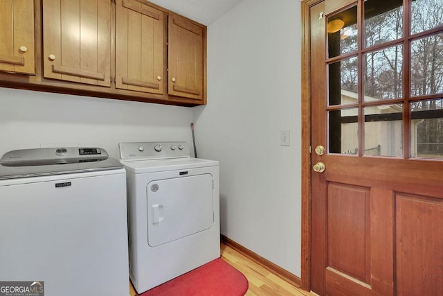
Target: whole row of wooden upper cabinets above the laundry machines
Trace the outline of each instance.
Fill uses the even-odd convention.
[[[0,0],[0,26],[1,87],[206,104],[206,26],[149,1]]]

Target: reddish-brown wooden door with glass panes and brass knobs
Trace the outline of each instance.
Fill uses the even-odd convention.
[[[311,7],[311,288],[443,295],[443,1]]]

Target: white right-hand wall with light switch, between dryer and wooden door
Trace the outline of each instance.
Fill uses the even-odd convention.
[[[220,162],[221,233],[300,277],[300,2],[244,0],[208,26],[197,155]],[[280,146],[291,130],[291,146]]]

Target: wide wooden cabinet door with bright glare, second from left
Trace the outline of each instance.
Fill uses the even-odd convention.
[[[44,77],[109,87],[111,1],[43,0]]]

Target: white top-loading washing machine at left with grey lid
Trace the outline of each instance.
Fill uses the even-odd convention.
[[[46,296],[129,295],[126,204],[125,170],[103,149],[6,153],[1,284],[38,282]]]

